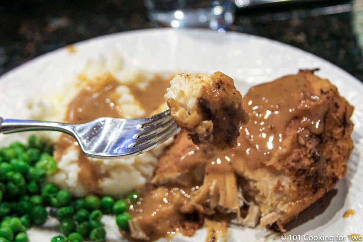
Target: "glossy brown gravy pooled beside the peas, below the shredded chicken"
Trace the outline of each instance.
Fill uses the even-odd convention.
[[[178,232],[192,236],[203,221],[191,219],[192,215],[181,213],[180,208],[190,201],[192,191],[198,188],[168,186],[144,190],[137,204],[130,206],[130,214],[151,241],[160,237],[171,239]]]

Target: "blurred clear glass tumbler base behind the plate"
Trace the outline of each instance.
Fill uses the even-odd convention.
[[[173,28],[209,27],[225,29],[233,23],[234,1],[145,0],[148,17]]]

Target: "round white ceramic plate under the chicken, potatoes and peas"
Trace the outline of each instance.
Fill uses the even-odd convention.
[[[90,58],[108,55],[117,50],[129,65],[150,71],[189,71],[192,73],[223,71],[230,75],[244,94],[257,83],[271,81],[282,75],[297,73],[298,69],[321,68],[316,74],[329,78],[340,93],[355,106],[354,151],[349,160],[348,173],[336,189],[306,209],[294,228],[286,233],[289,241],[338,241],[337,235],[363,233],[362,209],[363,164],[363,85],[339,67],[312,54],[289,45],[248,34],[218,34],[210,30],[152,29],[102,36],[75,45],[76,53],[65,48],[45,54],[9,71],[0,78],[0,114],[6,118],[28,118],[25,101],[34,95],[50,94],[64,81],[74,77]],[[1,145],[17,135],[1,135]],[[354,217],[344,219],[344,211],[354,209]],[[117,228],[108,225],[109,241],[120,241]],[[59,233],[59,232],[58,232]],[[30,241],[49,241],[58,234],[32,229]],[[232,227],[229,241],[280,240],[280,235],[268,234],[261,229]],[[300,235],[300,237],[299,237]],[[305,237],[304,237],[305,235]],[[327,236],[313,238],[309,236]],[[295,239],[294,239],[295,238]],[[305,240],[304,240],[305,239]],[[325,240],[322,240],[325,239]],[[174,241],[205,241],[205,231],[199,230],[193,238],[177,236]]]

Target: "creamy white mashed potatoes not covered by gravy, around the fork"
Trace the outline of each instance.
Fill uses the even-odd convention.
[[[113,61],[107,61],[105,58],[89,61],[84,70],[68,85],[65,85],[64,90],[60,90],[58,94],[30,100],[28,107],[32,119],[64,122],[69,103],[86,86],[87,80],[92,80],[105,73],[111,73],[120,83],[116,89],[119,98],[115,105],[120,107],[123,118],[146,115],[146,111],[126,84],[132,83],[142,89],[155,78],[155,74],[124,68],[122,58],[113,56]],[[167,108],[166,103],[163,103],[155,112],[161,112]],[[41,135],[44,139],[56,144],[61,133],[48,131],[42,132]],[[90,162],[97,164],[102,174],[105,174],[97,181],[99,188],[97,193],[122,197],[132,190],[144,186],[154,173],[158,156],[171,141],[170,139],[151,151],[127,159],[88,158]],[[66,149],[58,160],[58,171],[49,177],[49,181],[61,188],[68,189],[75,196],[85,196],[95,191],[90,190],[80,180],[79,174],[82,167],[79,164],[78,155],[78,149],[72,146]]]

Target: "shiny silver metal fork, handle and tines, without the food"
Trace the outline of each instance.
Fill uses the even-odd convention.
[[[155,148],[179,132],[180,128],[170,110],[147,118],[103,117],[83,124],[0,117],[0,133],[37,130],[60,131],[72,135],[86,156],[113,159],[139,155]]]

